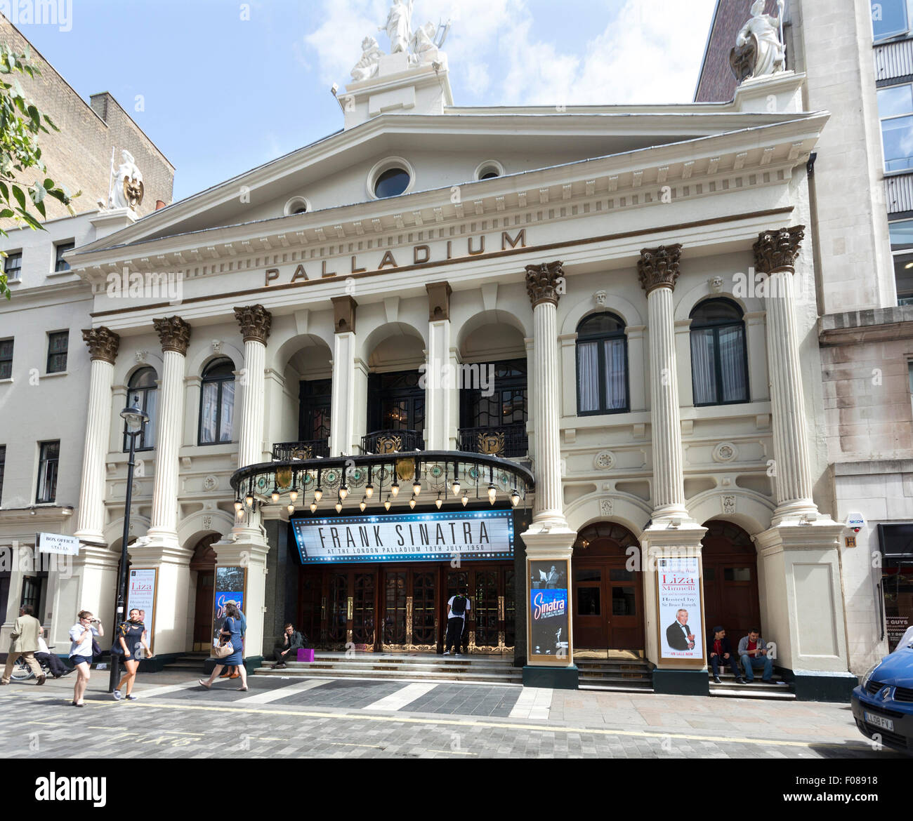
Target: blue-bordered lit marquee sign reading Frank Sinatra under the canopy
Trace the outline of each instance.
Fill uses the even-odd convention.
[[[513,511],[293,518],[302,565],[513,557]]]

